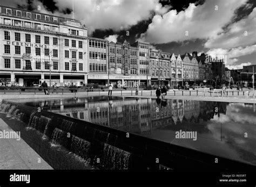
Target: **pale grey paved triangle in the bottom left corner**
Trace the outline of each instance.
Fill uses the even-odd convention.
[[[0,131],[13,130],[0,118]],[[0,139],[0,169],[52,169],[24,140]],[[41,163],[38,163],[41,159]]]

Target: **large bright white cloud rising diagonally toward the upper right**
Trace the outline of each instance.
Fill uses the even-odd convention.
[[[234,11],[245,3],[246,0],[233,0],[232,3],[208,0],[198,6],[190,3],[186,10],[179,13],[171,10],[163,16],[154,16],[142,38],[145,41],[163,44],[215,37],[223,32],[222,27],[230,22]]]

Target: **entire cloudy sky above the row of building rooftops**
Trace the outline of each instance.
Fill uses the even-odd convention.
[[[255,0],[0,0],[0,5],[74,15],[90,37],[147,41],[176,55],[206,53],[224,58],[230,69],[256,64]]]

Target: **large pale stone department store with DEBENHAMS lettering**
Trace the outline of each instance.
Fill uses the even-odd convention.
[[[1,6],[0,78],[19,85],[87,82],[87,28],[79,21]]]

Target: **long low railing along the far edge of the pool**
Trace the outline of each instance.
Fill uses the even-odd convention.
[[[87,88],[38,88],[38,87],[0,87],[0,94],[14,93],[30,93],[45,94],[44,90],[48,90],[50,94],[56,93],[61,95],[108,95],[108,89],[87,89]],[[92,94],[90,92],[93,92]],[[135,88],[131,90],[116,89],[112,90],[113,96],[147,96],[156,97],[156,90],[139,90],[136,95]],[[232,97],[249,98],[253,96],[253,90],[231,91],[226,90],[225,94],[222,90],[169,90],[167,96],[200,96],[200,97]]]

